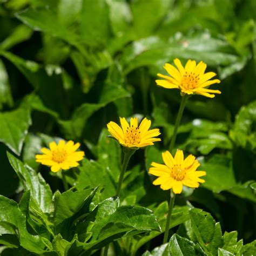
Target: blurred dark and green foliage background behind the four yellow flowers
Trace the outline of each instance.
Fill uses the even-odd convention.
[[[35,154],[64,138],[96,160],[84,160],[69,182],[83,189],[90,176],[112,196],[121,151],[105,137],[106,123],[146,116],[162,142],[134,156],[122,197],[154,210],[168,194],[145,170],[169,147],[180,102],[178,90],[154,80],[174,58],[203,60],[221,80],[211,88],[222,93],[190,98],[176,148],[198,157],[206,183],[177,203],[188,197],[223,231],[255,239],[255,19],[255,0],[0,0],[0,194],[18,200],[22,190],[6,150],[63,190]]]

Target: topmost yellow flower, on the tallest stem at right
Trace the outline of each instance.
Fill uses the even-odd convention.
[[[169,63],[165,63],[164,68],[171,77],[158,73],[157,75],[159,77],[165,78],[165,80],[156,80],[158,85],[167,89],[180,89],[181,95],[192,95],[196,93],[205,97],[214,98],[215,95],[210,93],[221,93],[219,90],[207,89],[211,84],[220,83],[220,80],[210,80],[216,74],[214,72],[205,73],[206,64],[204,62],[201,61],[197,64],[195,60],[189,59],[184,68],[180,60],[176,58],[174,59],[174,64],[178,69]]]

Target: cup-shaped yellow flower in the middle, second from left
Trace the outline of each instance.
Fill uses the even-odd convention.
[[[142,120],[139,126],[137,117],[131,118],[130,125],[124,117],[120,117],[120,123],[122,128],[118,124],[110,122],[107,124],[107,129],[125,147],[145,147],[161,140],[153,138],[161,133],[159,129],[149,130],[151,121],[146,118]]]

